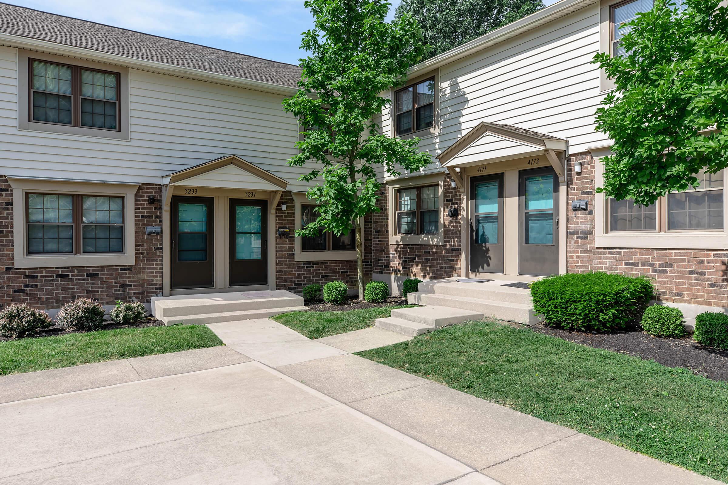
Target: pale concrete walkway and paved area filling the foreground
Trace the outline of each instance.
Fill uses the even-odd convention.
[[[309,340],[269,319],[227,347],[0,377],[0,484],[717,484]]]

